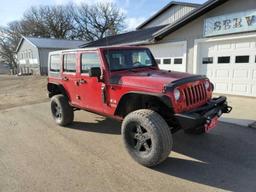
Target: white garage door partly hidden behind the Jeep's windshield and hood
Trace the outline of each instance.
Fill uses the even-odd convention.
[[[160,69],[186,72],[187,43],[161,43],[148,46]]]

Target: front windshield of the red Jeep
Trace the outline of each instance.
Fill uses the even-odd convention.
[[[110,71],[156,66],[148,49],[106,50],[105,57]]]

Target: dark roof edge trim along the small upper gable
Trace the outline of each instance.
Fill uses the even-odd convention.
[[[172,7],[174,5],[181,5],[181,6],[188,6],[188,7],[195,7],[195,8],[198,8],[201,6],[201,4],[196,4],[196,3],[171,1],[166,6],[164,6],[162,9],[160,9],[157,13],[155,13],[153,16],[151,16],[149,19],[147,19],[142,24],[140,24],[136,29],[141,29],[142,27],[144,27],[145,25],[150,23],[152,20],[157,18],[159,15],[163,14],[165,11],[167,11],[170,7]]]

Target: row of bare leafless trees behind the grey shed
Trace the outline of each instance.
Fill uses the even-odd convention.
[[[93,41],[119,33],[124,19],[111,3],[31,7],[20,21],[0,27],[0,58],[17,67],[15,50],[22,35]]]

